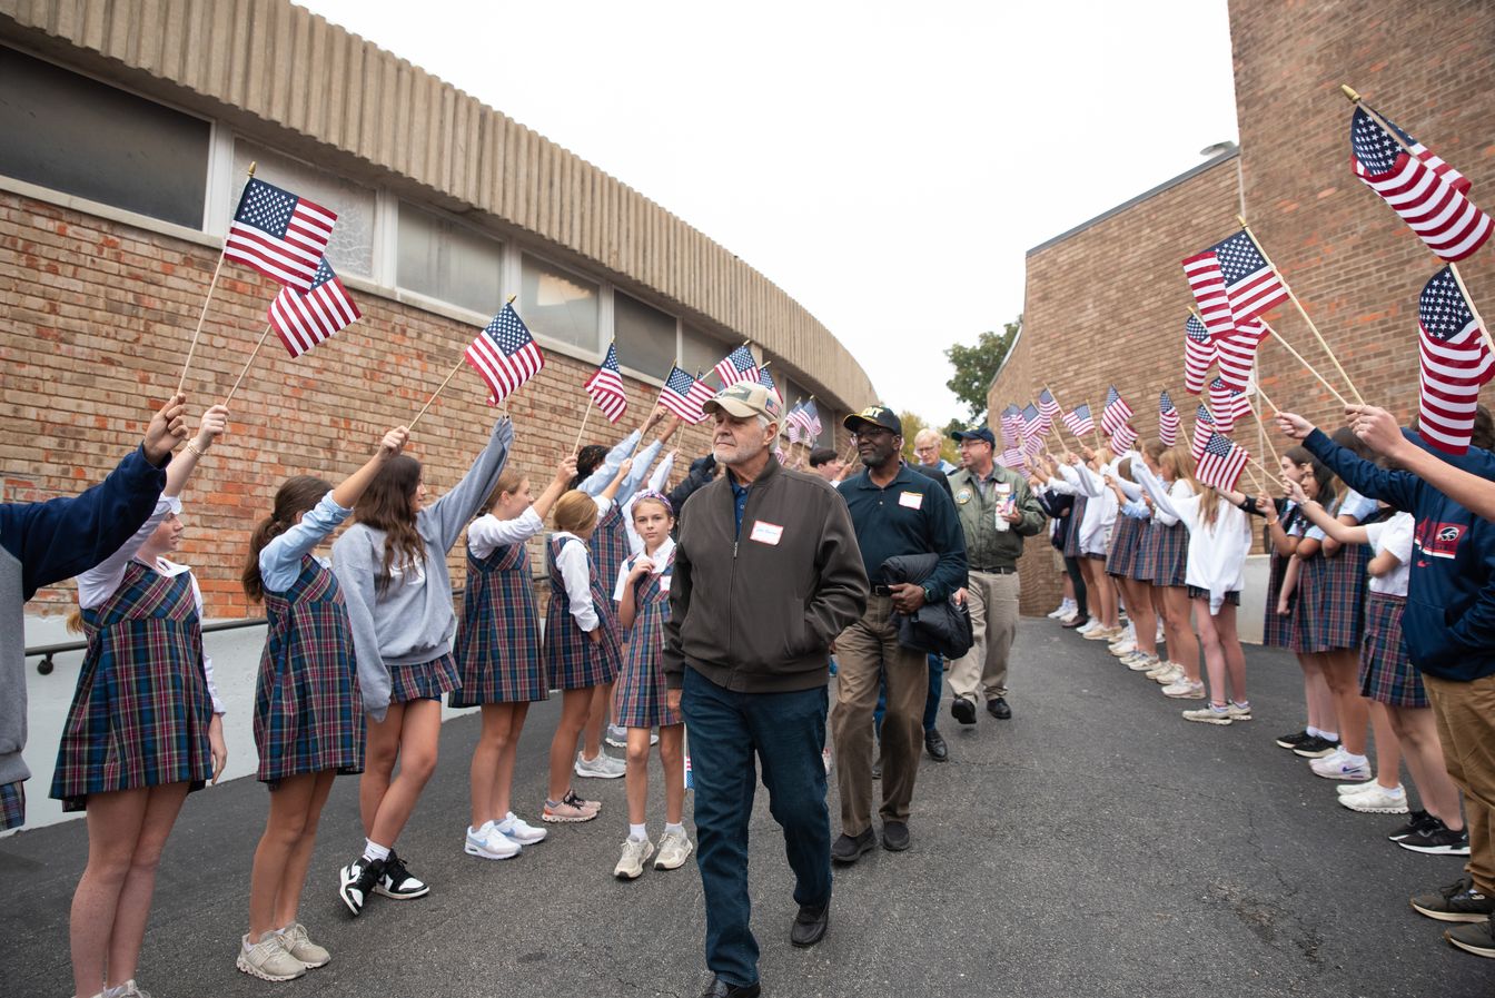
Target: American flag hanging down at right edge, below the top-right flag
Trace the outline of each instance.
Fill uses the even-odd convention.
[[[1495,377],[1495,355],[1450,268],[1432,275],[1417,298],[1422,404],[1417,429],[1447,453],[1470,449],[1480,386]]]

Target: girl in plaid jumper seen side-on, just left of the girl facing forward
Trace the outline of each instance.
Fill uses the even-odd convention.
[[[617,622],[597,564],[586,549],[597,521],[611,507],[617,486],[632,470],[625,459],[611,483],[595,500],[570,491],[556,501],[555,527],[547,546],[550,607],[546,612],[544,663],[550,685],[562,690],[561,720],[550,739],[550,786],[541,818],[546,821],[591,821],[601,809],[571,789],[571,768],[580,762],[577,739],[586,726],[595,687],[617,676],[622,649]]]

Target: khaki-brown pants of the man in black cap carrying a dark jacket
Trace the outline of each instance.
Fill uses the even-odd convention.
[[[831,732],[846,835],[861,835],[872,826],[872,712],[878,706],[879,673],[887,673],[888,679],[888,712],[882,718],[882,820],[907,821],[913,800],[930,673],[922,651],[898,645],[891,613],[891,599],[870,596],[867,612],[836,639]]]

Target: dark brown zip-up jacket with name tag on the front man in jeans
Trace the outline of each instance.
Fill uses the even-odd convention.
[[[731,471],[680,510],[664,673],[685,666],[740,693],[825,685],[828,649],[867,607],[867,572],[840,494],[771,456],[737,530]]]

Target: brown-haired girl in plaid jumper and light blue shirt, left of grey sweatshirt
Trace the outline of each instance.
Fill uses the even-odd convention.
[[[312,551],[351,513],[369,482],[405,446],[390,429],[338,488],[300,474],[275,492],[250,536],[244,591],[265,601],[269,627],[254,693],[257,777],[271,812],[250,872],[250,932],[236,965],[260,980],[292,980],[332,956],[296,920],[321,806],[339,774],[363,772],[363,703],[353,627],[332,569]]]

